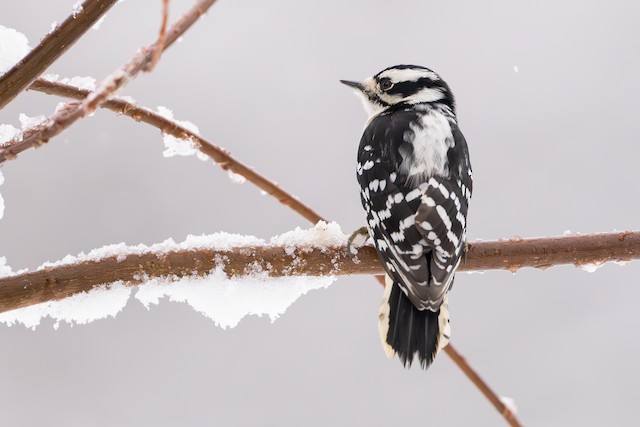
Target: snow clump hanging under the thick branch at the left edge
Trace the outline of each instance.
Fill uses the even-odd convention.
[[[102,285],[60,301],[0,313],[0,323],[7,326],[21,323],[35,330],[43,318],[50,317],[55,320],[55,329],[58,329],[60,322],[84,325],[109,316],[115,317],[127,305],[130,295],[131,289],[122,283]]]

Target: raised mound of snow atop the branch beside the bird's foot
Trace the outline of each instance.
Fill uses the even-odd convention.
[[[273,246],[284,246],[287,254],[292,255],[296,249],[311,251],[314,248],[346,246],[347,235],[335,222],[318,221],[315,227],[308,230],[297,227],[293,231],[272,237],[270,243]]]

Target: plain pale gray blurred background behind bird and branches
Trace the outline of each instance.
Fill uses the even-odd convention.
[[[5,2],[0,24],[35,44],[74,2]],[[190,4],[172,1],[172,17]],[[453,88],[471,148],[471,240],[632,229],[639,12],[636,1],[220,0],[122,94],[193,121],[348,232],[364,222],[365,114],[337,80],[426,65]],[[100,79],[155,38],[159,18],[160,1],[124,2],[49,72]],[[58,102],[23,94],[0,122]],[[162,150],[156,129],[101,111],[7,162],[0,254],[33,268],[121,241],[308,226],[216,166]],[[526,425],[635,425],[639,273],[460,274],[453,342]],[[0,326],[2,425],[502,425],[445,355],[426,373],[385,358],[381,294],[370,278],[342,278],[273,325],[227,331],[185,305],[135,301],[88,326]]]

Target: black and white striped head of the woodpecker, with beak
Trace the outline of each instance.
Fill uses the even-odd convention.
[[[395,65],[362,82],[340,82],[356,90],[370,116],[393,106],[431,102],[448,105],[455,113],[447,83],[434,71],[419,65]]]

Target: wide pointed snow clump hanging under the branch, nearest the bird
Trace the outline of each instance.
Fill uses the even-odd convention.
[[[274,322],[298,298],[315,289],[325,289],[334,277],[270,278],[259,273],[228,278],[221,268],[207,277],[153,279],[138,289],[135,298],[149,308],[161,298],[189,304],[222,327],[233,328],[247,315],[267,315]]]

